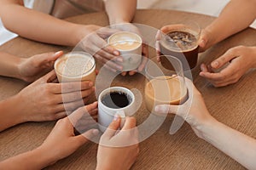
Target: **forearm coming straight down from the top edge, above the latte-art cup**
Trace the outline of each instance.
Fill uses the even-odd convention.
[[[109,24],[131,22],[137,8],[137,0],[106,0],[105,8]]]

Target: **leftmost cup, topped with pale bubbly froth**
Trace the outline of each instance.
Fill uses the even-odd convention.
[[[59,82],[95,82],[95,70],[95,59],[84,52],[64,54],[55,61],[55,72]]]

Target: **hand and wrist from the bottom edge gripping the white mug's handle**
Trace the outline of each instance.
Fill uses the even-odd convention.
[[[102,134],[97,153],[96,169],[130,169],[139,152],[136,119],[126,117],[124,127],[117,133],[121,119],[114,118]]]

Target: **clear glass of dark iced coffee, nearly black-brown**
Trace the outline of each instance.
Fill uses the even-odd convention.
[[[183,70],[193,69],[197,64],[198,41],[201,26],[195,22],[164,26],[160,33],[160,60],[165,62],[165,55],[172,55],[180,59]]]

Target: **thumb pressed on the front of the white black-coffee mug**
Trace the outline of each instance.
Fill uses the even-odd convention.
[[[111,139],[120,127],[120,123],[121,118],[119,116],[114,116],[113,122],[110,123],[105,133],[103,133],[102,138]]]

